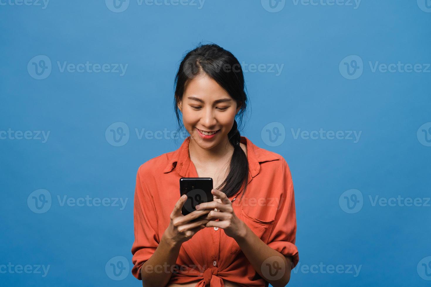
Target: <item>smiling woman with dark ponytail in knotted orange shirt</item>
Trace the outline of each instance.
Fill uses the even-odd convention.
[[[238,60],[200,45],[175,83],[190,136],[137,171],[132,274],[146,287],[285,286],[299,261],[292,178],[281,155],[237,130],[247,106]],[[181,177],[211,177],[214,201],[183,216]]]

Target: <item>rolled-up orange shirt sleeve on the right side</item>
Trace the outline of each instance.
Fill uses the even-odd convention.
[[[275,188],[281,188],[281,198],[275,215],[274,225],[268,239],[268,246],[277,250],[284,256],[291,256],[294,268],[299,262],[298,248],[295,245],[296,238],[296,210],[292,176],[286,160],[283,162],[283,177]],[[280,186],[281,185],[281,186]]]

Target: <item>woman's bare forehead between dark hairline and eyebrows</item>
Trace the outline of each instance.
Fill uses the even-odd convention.
[[[199,75],[188,81],[184,89],[184,100],[187,97],[197,97],[205,102],[212,102],[220,98],[232,99],[229,93],[222,88],[214,79],[206,74]]]

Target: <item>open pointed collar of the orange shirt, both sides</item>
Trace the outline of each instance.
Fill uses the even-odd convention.
[[[247,145],[247,160],[250,173],[249,180],[259,173],[261,162],[279,159],[278,154],[266,151],[263,148],[259,148],[245,136],[241,136],[240,142]],[[181,146],[173,152],[169,163],[163,170],[163,173],[169,173],[175,167],[175,170],[178,172],[178,174],[182,177],[185,177],[191,163],[188,152],[189,143],[190,136],[184,139],[184,142],[181,144]]]

